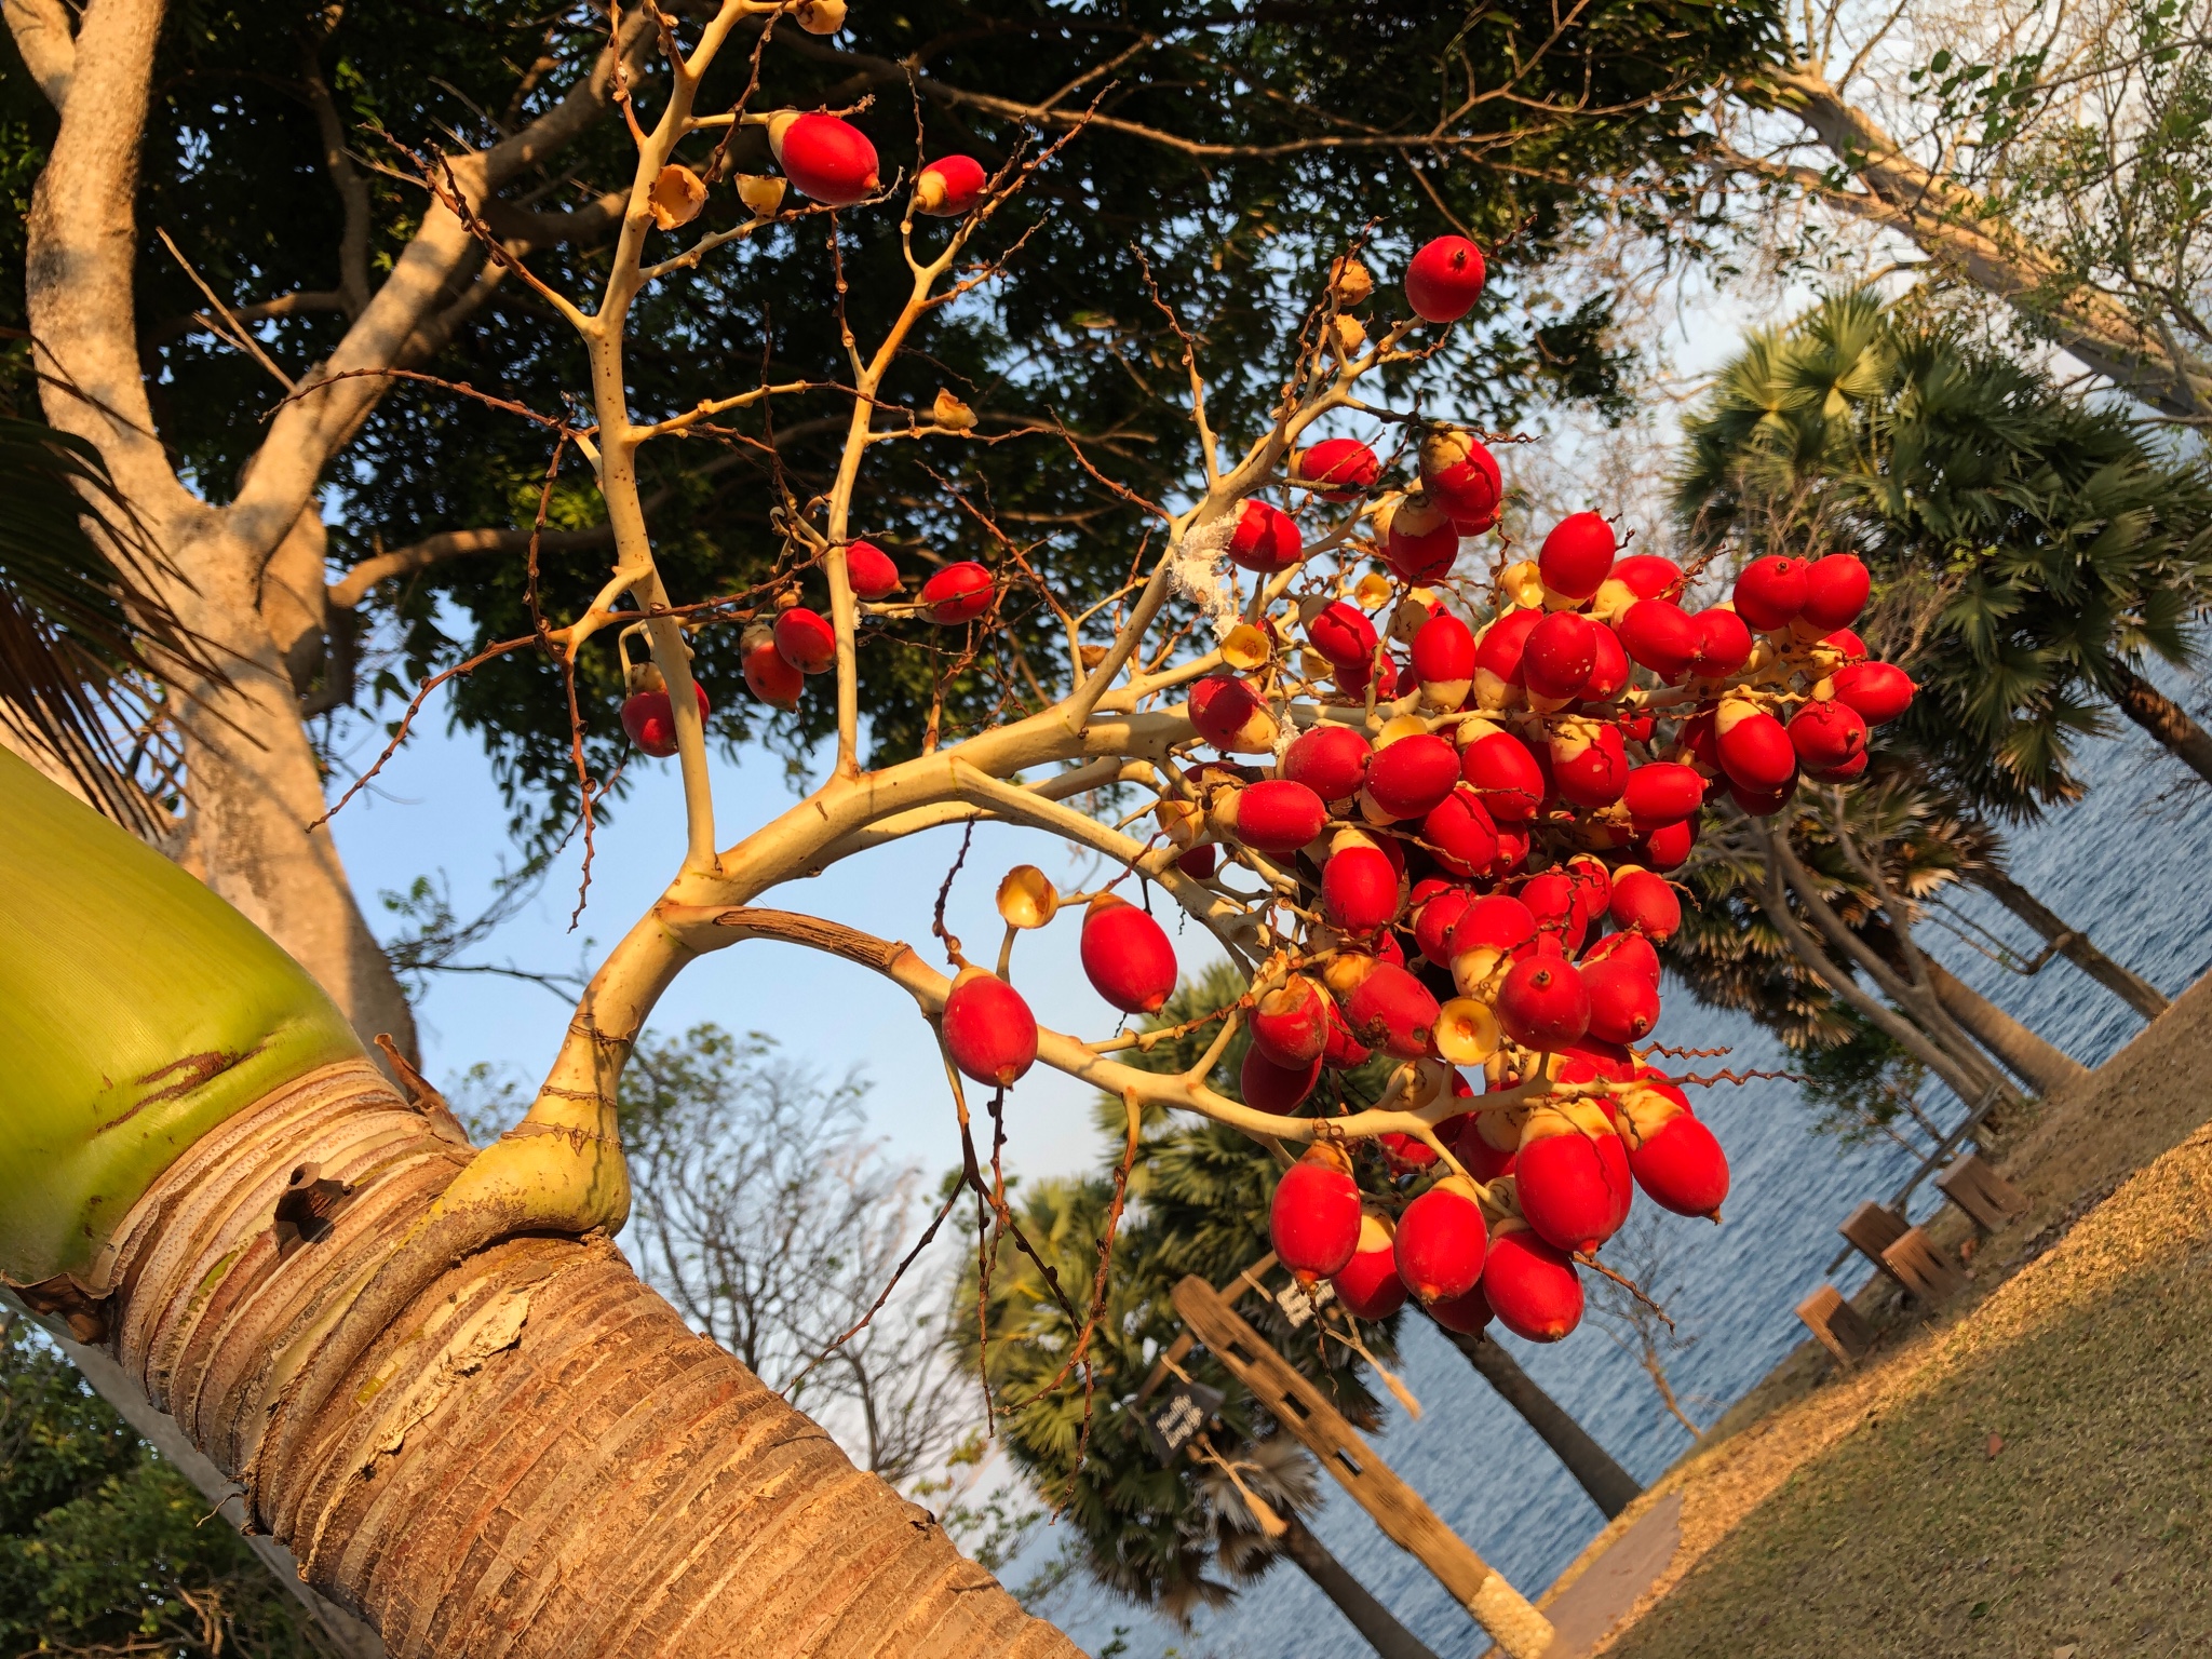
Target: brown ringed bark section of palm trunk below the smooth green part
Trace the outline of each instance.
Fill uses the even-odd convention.
[[[325,1066],[190,1146],[106,1276],[124,1371],[394,1659],[1075,1657],[606,1237],[378,1294],[469,1157]]]

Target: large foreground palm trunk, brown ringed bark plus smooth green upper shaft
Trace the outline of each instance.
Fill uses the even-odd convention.
[[[473,1157],[442,1102],[13,757],[0,803],[0,1272],[394,1657],[1073,1659],[604,1234],[394,1276]]]

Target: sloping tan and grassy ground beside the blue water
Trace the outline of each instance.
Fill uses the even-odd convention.
[[[1590,1544],[1553,1595],[1681,1493],[1672,1566],[1597,1652],[2212,1657],[2208,1117],[2212,980],[2011,1137],[2028,1212],[1962,1298],[1878,1281],[1860,1369],[1807,1340]]]

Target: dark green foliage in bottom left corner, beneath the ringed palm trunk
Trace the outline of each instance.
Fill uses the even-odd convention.
[[[0,1314],[0,1652],[319,1652],[208,1500],[29,1323]]]

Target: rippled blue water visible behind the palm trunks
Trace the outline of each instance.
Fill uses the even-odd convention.
[[[2203,703],[2203,686],[2168,690],[2192,706]],[[2079,805],[2011,832],[2011,872],[2068,927],[2174,995],[2212,967],[2212,878],[2205,876],[2212,869],[2212,792],[2135,728],[2086,743],[2081,770],[2090,792]],[[2042,945],[1980,894],[1958,907],[2020,958],[2035,956]],[[1918,938],[1953,973],[2088,1066],[2141,1029],[2128,1004],[2066,960],[2024,978],[1940,925],[1922,925]],[[1683,1064],[1787,1064],[1747,1020],[1701,1009],[1679,987],[1670,987],[1666,1011],[1661,1040],[1734,1046],[1728,1060]],[[1944,1124],[1962,1115],[1947,1095],[1936,1099]],[[1699,1113],[1719,1133],[1734,1168],[1728,1221],[1712,1228],[1666,1217],[1661,1239],[1674,1283],[1666,1303],[1692,1338],[1670,1360],[1670,1378],[1690,1413],[1712,1422],[1805,1336],[1794,1310],[1836,1254],[1836,1225],[1863,1199],[1887,1199],[1918,1159],[1891,1144],[1840,1148],[1814,1137],[1790,1082],[1710,1088]],[[1913,1219],[1938,1203],[1940,1194],[1924,1188],[1911,1206]],[[1834,1283],[1851,1292],[1865,1279],[1865,1263],[1854,1256]],[[1659,1475],[1690,1444],[1688,1431],[1661,1409],[1641,1365],[1595,1325],[1584,1323],[1553,1347],[1502,1340],[1639,1480]],[[1376,1449],[1478,1555],[1526,1595],[1540,1595],[1599,1531],[1597,1506],[1427,1321],[1405,1321],[1402,1343],[1405,1380],[1425,1409],[1413,1420],[1394,1405]],[[1489,1646],[1444,1588],[1334,1486],[1314,1531],[1440,1659]],[[1018,1584],[1022,1566],[1035,1566],[1055,1546],[1057,1537],[1040,1540],[1009,1571],[1009,1582]],[[1369,1652],[1292,1566],[1279,1566],[1228,1608],[1201,1613],[1188,1630],[1082,1577],[1037,1610],[1088,1652],[1117,1659],[1356,1659]]]

